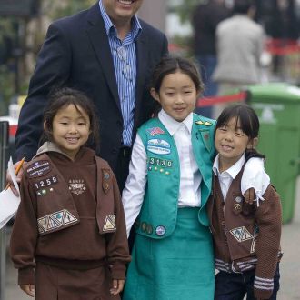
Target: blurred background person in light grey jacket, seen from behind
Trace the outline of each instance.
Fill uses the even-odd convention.
[[[265,31],[255,23],[254,15],[253,0],[235,0],[233,16],[217,25],[217,65],[213,79],[218,83],[218,95],[261,80],[260,57],[265,45]],[[216,109],[215,117],[222,108]]]

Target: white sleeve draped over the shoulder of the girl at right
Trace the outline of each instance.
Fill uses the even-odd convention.
[[[265,173],[264,159],[258,157],[250,158],[244,168],[241,181],[242,194],[253,187],[255,189],[256,200],[263,200],[263,195],[267,186],[270,184],[270,177]]]

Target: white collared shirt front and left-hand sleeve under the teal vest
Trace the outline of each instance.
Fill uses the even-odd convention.
[[[195,162],[192,148],[191,132],[193,113],[188,115],[183,122],[175,121],[164,110],[158,114],[159,120],[165,125],[170,135],[174,137],[180,162],[180,188],[178,206],[200,206],[200,184],[202,175]],[[142,139],[136,135],[133,147],[129,175],[122,194],[125,211],[127,235],[139,214],[145,195],[147,175],[146,153]]]

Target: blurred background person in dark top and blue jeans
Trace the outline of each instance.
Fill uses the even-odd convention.
[[[230,10],[225,6],[225,0],[202,0],[195,7],[192,16],[194,55],[205,84],[204,97],[216,95],[217,93],[217,84],[212,80],[216,66],[215,29],[219,22],[229,15]],[[211,117],[212,109],[211,106],[196,108],[195,112]]]

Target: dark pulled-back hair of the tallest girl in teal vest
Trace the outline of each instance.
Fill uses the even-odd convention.
[[[203,92],[204,84],[194,62],[190,59],[174,55],[166,55],[161,59],[158,65],[155,66],[151,79],[151,87],[155,88],[156,93],[159,93],[165,76],[174,74],[177,71],[188,75],[192,79],[197,93]]]

